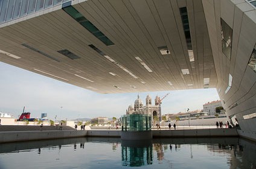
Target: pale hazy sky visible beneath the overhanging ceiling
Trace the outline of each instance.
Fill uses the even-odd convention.
[[[164,97],[161,104],[162,115],[203,109],[208,101],[219,100],[216,89],[193,89],[183,91],[137,92],[127,94],[98,94],[72,84],[26,71],[0,62],[0,112],[11,113],[14,118],[30,112],[30,118],[40,118],[47,113],[54,120],[75,120],[77,118],[95,118],[113,116],[120,118],[133,105],[138,94],[146,104],[146,96]]]

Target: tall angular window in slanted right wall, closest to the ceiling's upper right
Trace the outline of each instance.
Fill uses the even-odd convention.
[[[230,59],[232,48],[232,29],[225,21],[223,21],[222,18],[220,18],[220,25],[222,31],[222,53]]]

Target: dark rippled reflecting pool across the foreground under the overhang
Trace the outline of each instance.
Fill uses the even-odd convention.
[[[0,144],[5,168],[256,168],[256,143],[241,138],[69,138]]]

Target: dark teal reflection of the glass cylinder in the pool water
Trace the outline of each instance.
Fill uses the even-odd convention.
[[[121,142],[122,165],[139,167],[152,164],[152,141],[124,141]]]

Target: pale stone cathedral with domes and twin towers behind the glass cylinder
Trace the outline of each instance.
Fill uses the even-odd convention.
[[[134,107],[130,105],[126,110],[126,115],[130,114],[143,114],[143,115],[151,115],[152,121],[153,116],[158,116],[159,121],[161,121],[161,100],[158,96],[155,98],[155,105],[152,105],[152,98],[150,95],[147,95],[146,98],[146,106],[143,106],[142,100],[138,98],[134,102]]]

